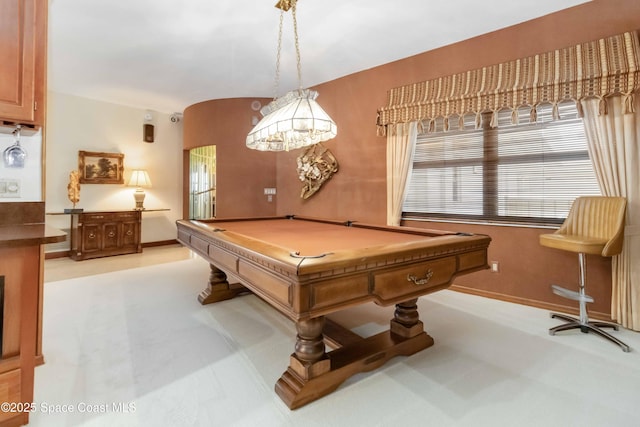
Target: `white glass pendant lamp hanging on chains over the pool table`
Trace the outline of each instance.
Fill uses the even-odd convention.
[[[275,92],[280,83],[280,51],[284,13],[291,9],[295,37],[298,89],[275,98],[260,113],[262,120],[247,135],[247,147],[260,151],[289,151],[335,138],[338,128],[331,117],[316,102],[318,92],[302,88],[302,67],[296,20],[297,0],[280,0],[280,27],[276,56]]]

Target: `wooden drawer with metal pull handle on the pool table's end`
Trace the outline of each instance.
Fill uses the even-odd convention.
[[[456,257],[449,257],[376,273],[375,294],[382,300],[424,295],[449,284],[456,269]]]

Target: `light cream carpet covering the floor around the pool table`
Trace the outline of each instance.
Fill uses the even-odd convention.
[[[290,411],[273,387],[293,323],[253,295],[200,305],[208,275],[189,259],[46,283],[30,425],[640,425],[640,334],[615,333],[631,353],[579,332],[552,337],[546,311],[452,291],[419,301],[433,347]],[[369,334],[392,312],[370,304],[334,318]]]

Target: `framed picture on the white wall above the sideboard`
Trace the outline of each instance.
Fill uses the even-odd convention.
[[[124,184],[124,154],[78,151],[81,184]]]

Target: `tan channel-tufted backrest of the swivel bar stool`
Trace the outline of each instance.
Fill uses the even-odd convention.
[[[578,197],[557,233],[605,239],[602,256],[617,255],[622,252],[626,208],[624,197]]]

